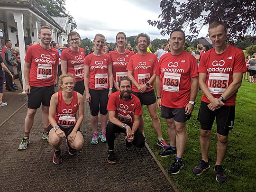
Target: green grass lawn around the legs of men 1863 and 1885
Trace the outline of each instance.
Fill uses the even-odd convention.
[[[256,83],[243,80],[237,94],[235,126],[229,132],[229,148],[222,164],[228,177],[228,182],[224,184],[216,182],[213,170],[216,161],[216,123],[213,125],[211,134],[210,169],[200,176],[192,174],[193,167],[201,159],[200,123],[196,120],[200,100],[201,93],[197,96],[192,118],[187,121],[188,143],[183,155],[185,165],[179,174],[169,174],[171,180],[178,189],[186,192],[256,191]],[[143,112],[147,144],[167,170],[173,163],[174,156],[163,158],[158,155],[161,148],[156,145],[157,136],[146,106],[143,106]],[[169,143],[165,119],[160,117],[160,110],[157,112],[163,137]]]

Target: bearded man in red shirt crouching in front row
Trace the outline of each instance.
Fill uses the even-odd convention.
[[[114,141],[116,133],[126,134],[126,148],[131,150],[132,144],[138,148],[145,145],[144,137],[139,131],[142,108],[139,99],[131,93],[132,82],[128,77],[119,80],[119,89],[110,95],[107,110],[110,122],[107,125],[106,137],[109,146],[108,163],[115,164]]]

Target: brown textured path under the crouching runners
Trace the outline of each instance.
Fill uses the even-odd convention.
[[[119,135],[115,142],[117,164],[108,164],[107,144],[90,142],[88,105],[81,127],[84,146],[78,155],[69,155],[64,143],[61,146],[63,164],[52,163],[53,150],[41,138],[40,109],[30,134],[31,144],[26,150],[18,151],[26,113],[25,105],[0,127],[0,192],[174,191],[146,147],[133,146],[131,151],[125,150],[124,135]]]

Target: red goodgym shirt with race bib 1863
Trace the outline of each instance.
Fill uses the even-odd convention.
[[[186,107],[190,100],[191,78],[198,76],[196,58],[186,51],[180,55],[169,52],[161,56],[155,74],[161,79],[162,105]]]

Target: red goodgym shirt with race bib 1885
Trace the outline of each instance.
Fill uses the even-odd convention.
[[[206,85],[215,98],[219,98],[233,82],[233,73],[247,72],[245,55],[241,49],[230,46],[222,54],[210,49],[201,58],[199,73],[207,73]],[[232,95],[225,105],[235,105],[237,94]],[[203,94],[201,101],[210,103]]]

